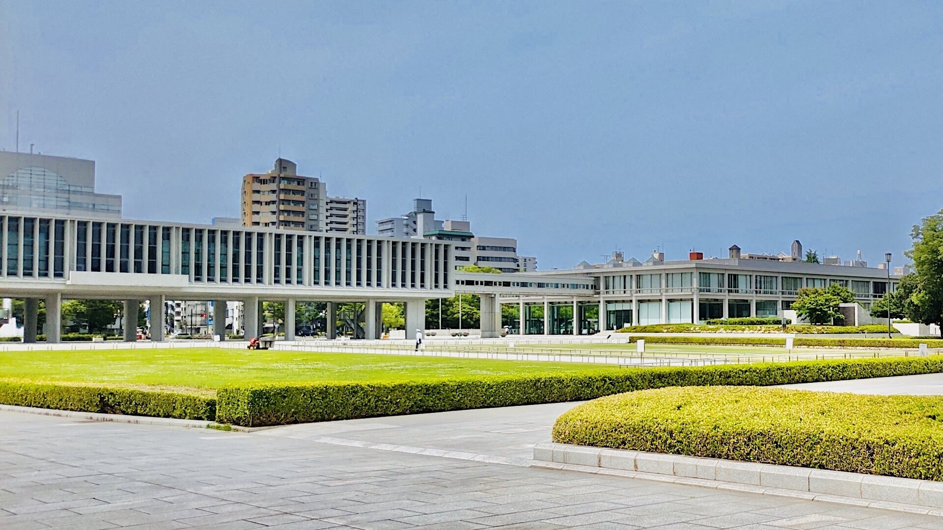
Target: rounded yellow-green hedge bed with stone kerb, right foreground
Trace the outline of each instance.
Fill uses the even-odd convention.
[[[939,396],[650,389],[576,406],[554,441],[943,480]]]

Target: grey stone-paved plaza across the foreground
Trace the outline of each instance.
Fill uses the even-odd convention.
[[[926,515],[521,465],[569,406],[252,434],[0,412],[0,528],[943,529]],[[432,455],[447,451],[461,458]],[[509,463],[463,459],[488,455]]]

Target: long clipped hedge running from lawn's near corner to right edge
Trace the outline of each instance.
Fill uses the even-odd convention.
[[[639,389],[783,385],[943,372],[943,356],[684,368],[614,368],[403,383],[321,383],[217,391],[217,422],[244,426],[349,420],[489,406],[593,399]]]

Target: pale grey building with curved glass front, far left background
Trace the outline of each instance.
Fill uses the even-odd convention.
[[[121,219],[121,195],[95,192],[95,162],[0,151],[0,211]]]

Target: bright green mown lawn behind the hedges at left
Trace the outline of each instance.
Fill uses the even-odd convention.
[[[224,385],[406,381],[517,373],[587,373],[613,366],[448,357],[173,348],[0,352],[0,380],[212,390]]]

